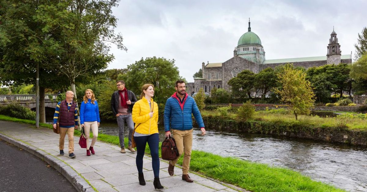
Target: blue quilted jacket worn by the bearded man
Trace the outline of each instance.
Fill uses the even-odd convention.
[[[201,118],[194,98],[186,93],[185,100],[181,104],[176,93],[167,99],[166,107],[164,108],[164,131],[169,131],[170,128],[177,130],[192,129],[191,114],[194,115],[199,127],[204,127],[203,118]]]

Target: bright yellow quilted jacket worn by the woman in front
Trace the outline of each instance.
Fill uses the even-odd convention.
[[[132,121],[135,123],[136,132],[141,134],[155,134],[158,133],[158,105],[153,99],[150,99],[153,104],[153,117],[150,118],[150,108],[148,100],[145,97],[135,102],[132,108]]]

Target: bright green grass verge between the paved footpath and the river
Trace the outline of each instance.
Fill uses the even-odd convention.
[[[12,121],[26,124],[35,124],[31,120],[17,119],[0,115],[0,120]],[[50,124],[40,124],[42,127],[52,128]],[[75,135],[80,135],[76,130]],[[110,144],[119,145],[119,137],[106,134],[98,134],[98,140]],[[125,139],[127,145],[127,139]],[[161,146],[161,143],[159,147]],[[150,153],[146,147],[146,153]],[[159,150],[160,152],[160,150]],[[159,156],[161,156],[159,154]],[[334,186],[311,180],[309,177],[301,175],[297,171],[272,167],[266,164],[249,162],[233,157],[222,157],[202,151],[192,151],[190,170],[223,181],[232,185],[239,186],[254,192],[273,192],[273,191],[343,191]],[[182,165],[181,156],[178,163]]]

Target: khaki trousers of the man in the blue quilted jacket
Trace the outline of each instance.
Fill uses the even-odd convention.
[[[172,134],[176,141],[178,153],[180,154],[179,157],[184,153],[182,174],[189,174],[192,149],[192,129],[185,131],[172,129]],[[171,165],[174,166],[177,163],[179,157],[177,157],[175,160],[172,160]]]

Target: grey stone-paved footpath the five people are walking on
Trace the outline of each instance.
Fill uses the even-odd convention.
[[[62,173],[78,191],[94,191],[92,186],[101,192],[155,191],[151,158],[144,156],[143,171],[146,185],[141,186],[135,166],[136,153],[120,153],[119,146],[97,141],[94,146],[96,154],[86,156],[86,149],[81,149],[78,144],[79,137],[74,137],[76,158],[70,159],[66,155],[68,154],[67,136],[65,155],[58,156],[59,135],[51,129],[34,128],[33,125],[6,121],[0,121],[0,138],[45,160]],[[161,160],[159,176],[164,189],[160,191],[244,191],[233,185],[200,177],[194,173],[190,173],[190,177],[195,181],[188,183],[181,179],[182,170],[179,167],[175,168],[173,176],[168,174],[167,168],[168,163]]]

